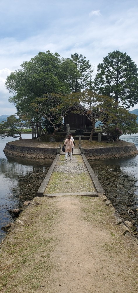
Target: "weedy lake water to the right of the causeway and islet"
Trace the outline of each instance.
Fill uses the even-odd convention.
[[[120,139],[133,142],[138,149],[138,133]],[[124,219],[135,221],[138,228],[138,155],[90,164],[113,206]]]

